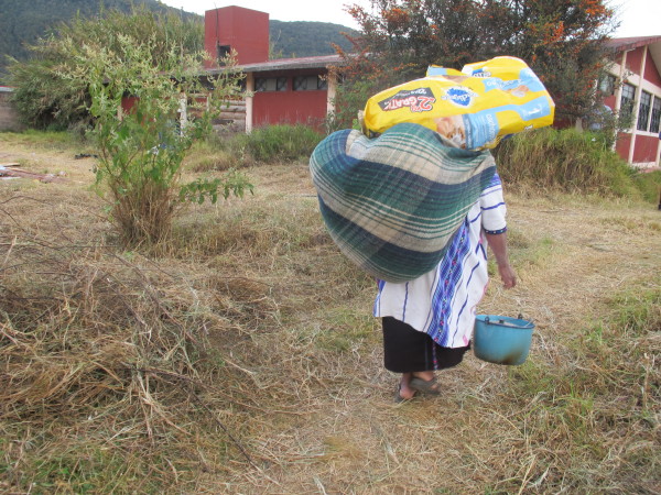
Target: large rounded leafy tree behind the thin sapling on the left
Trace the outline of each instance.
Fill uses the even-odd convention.
[[[204,26],[195,20],[173,13],[136,8],[132,13],[102,11],[98,18],[76,16],[61,24],[51,35],[29,46],[32,58],[13,59],[9,66],[9,84],[15,87],[13,100],[22,120],[37,129],[67,129],[73,124],[89,123],[90,100],[87,81],[80,78],[63,79],[63,74],[77,74],[77,64],[71,46],[100,46],[122,58],[122,40],[151,40],[149,58],[153,67],[162,66],[170,53],[184,57],[204,47]],[[69,45],[71,43],[71,45]]]

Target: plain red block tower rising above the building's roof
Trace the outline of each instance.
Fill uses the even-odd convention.
[[[269,59],[268,13],[234,6],[207,10],[204,26],[204,48],[214,61],[217,44],[236,50],[239,65]],[[217,63],[207,63],[207,68],[215,66]]]

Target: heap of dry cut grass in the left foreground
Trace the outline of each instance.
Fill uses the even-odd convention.
[[[268,286],[122,252],[89,193],[40,193],[0,201],[0,490],[192,490],[252,462],[209,342],[273,321]]]

